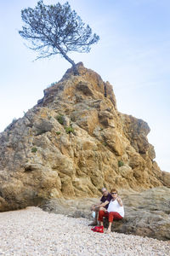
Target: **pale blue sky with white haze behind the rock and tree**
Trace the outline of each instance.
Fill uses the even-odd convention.
[[[113,85],[120,112],[148,123],[156,162],[162,171],[170,172],[170,1],[69,3],[100,37],[90,53],[69,56]],[[36,5],[35,0],[0,1],[0,132],[36,105],[43,90],[71,67],[59,55],[35,61],[36,52],[28,49],[26,40],[20,37],[20,10]]]

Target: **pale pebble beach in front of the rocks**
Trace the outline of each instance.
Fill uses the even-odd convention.
[[[169,256],[170,241],[94,233],[88,219],[27,207],[0,213],[0,255]]]

